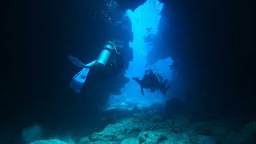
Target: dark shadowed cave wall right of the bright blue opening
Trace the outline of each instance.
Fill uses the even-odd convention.
[[[162,28],[161,48],[174,58],[190,114],[255,118],[252,2],[162,2],[170,19]]]

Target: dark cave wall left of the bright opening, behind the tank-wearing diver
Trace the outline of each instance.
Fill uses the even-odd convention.
[[[34,124],[42,126],[46,135],[97,130],[107,96],[118,93],[127,82],[123,74],[131,50],[122,51],[127,55],[118,77],[111,80],[91,74],[81,94],[69,87],[79,69],[66,56],[86,63],[98,58],[108,40],[127,44],[132,38],[130,23],[124,29],[106,22],[101,14],[103,1],[8,1],[3,6],[2,141],[21,142],[22,129]],[[130,6],[124,2],[117,11]],[[116,18],[122,19],[122,14]]]

